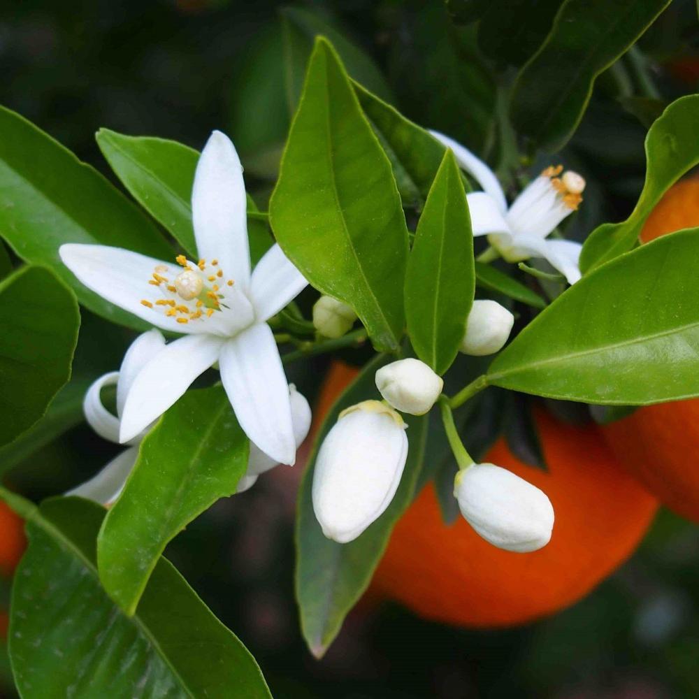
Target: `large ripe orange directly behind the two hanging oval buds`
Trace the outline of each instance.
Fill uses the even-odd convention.
[[[356,375],[335,363],[321,391],[322,419]],[[398,600],[423,617],[463,626],[511,626],[575,602],[635,549],[656,499],[619,467],[596,426],[537,415],[548,473],[526,466],[500,440],[484,461],[540,487],[556,511],[552,540],[515,554],[485,542],[459,517],[442,522],[428,485],[396,525],[369,594]]]

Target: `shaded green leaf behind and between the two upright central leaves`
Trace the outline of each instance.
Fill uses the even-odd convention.
[[[424,206],[446,148],[428,131],[354,82],[364,116],[391,161],[403,206]]]

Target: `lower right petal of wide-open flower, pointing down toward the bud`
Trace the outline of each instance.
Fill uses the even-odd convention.
[[[278,463],[296,460],[289,386],[270,327],[260,323],[228,340],[221,380],[243,431]]]

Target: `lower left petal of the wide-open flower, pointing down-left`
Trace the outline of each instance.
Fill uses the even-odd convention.
[[[122,415],[120,441],[128,442],[160,417],[217,359],[225,340],[189,335],[169,343],[138,372]]]

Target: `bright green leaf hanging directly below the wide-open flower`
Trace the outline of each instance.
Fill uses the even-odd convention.
[[[220,386],[188,391],[148,433],[97,540],[104,589],[127,614],[168,542],[236,492],[248,445]]]

